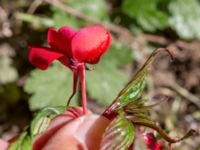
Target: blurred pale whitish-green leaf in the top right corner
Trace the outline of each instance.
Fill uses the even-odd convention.
[[[172,14],[170,26],[183,39],[200,39],[200,2],[173,0],[169,5]]]

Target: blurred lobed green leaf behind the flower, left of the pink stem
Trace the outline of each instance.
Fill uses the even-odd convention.
[[[65,106],[72,93],[72,73],[55,62],[48,70],[34,70],[25,84],[25,91],[32,94],[29,100],[31,110],[50,106]],[[77,105],[77,97],[72,100]]]

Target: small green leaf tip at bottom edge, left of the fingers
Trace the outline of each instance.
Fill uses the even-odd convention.
[[[28,136],[27,132],[25,132],[8,150],[32,150],[31,145],[31,138]]]

